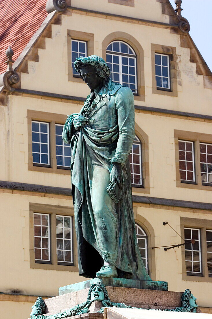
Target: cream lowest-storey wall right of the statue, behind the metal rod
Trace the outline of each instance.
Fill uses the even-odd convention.
[[[163,210],[157,208],[138,207],[137,214],[152,225],[155,232],[155,247],[176,245],[181,238],[163,222],[168,222],[180,234],[180,216],[196,219],[210,219],[210,214],[191,213],[187,211]],[[151,249],[151,248],[150,248]],[[189,288],[197,298],[201,307],[211,307],[212,283],[182,280],[181,248],[165,251],[164,248],[155,249],[156,278],[167,281],[169,291],[185,291]],[[207,293],[205,293],[207,291]]]

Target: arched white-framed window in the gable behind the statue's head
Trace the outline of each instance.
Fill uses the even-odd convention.
[[[106,49],[106,62],[110,68],[110,78],[121,85],[137,91],[136,54],[134,50],[123,41],[113,41]]]

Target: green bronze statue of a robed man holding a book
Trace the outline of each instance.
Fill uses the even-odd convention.
[[[99,56],[77,58],[74,66],[91,90],[63,129],[72,150],[79,274],[151,280],[138,249],[132,208],[133,93],[109,78],[110,69]],[[118,202],[106,190],[110,183],[123,194]]]

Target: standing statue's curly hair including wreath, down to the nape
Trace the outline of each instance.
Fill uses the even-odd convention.
[[[80,56],[76,58],[74,62],[74,67],[77,72],[80,73],[81,68],[86,66],[92,66],[97,75],[103,78],[103,86],[107,86],[110,76],[110,68],[107,66],[107,63],[100,56]]]

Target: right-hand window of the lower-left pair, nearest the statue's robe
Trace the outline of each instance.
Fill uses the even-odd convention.
[[[57,260],[59,265],[73,263],[72,218],[56,215]]]

